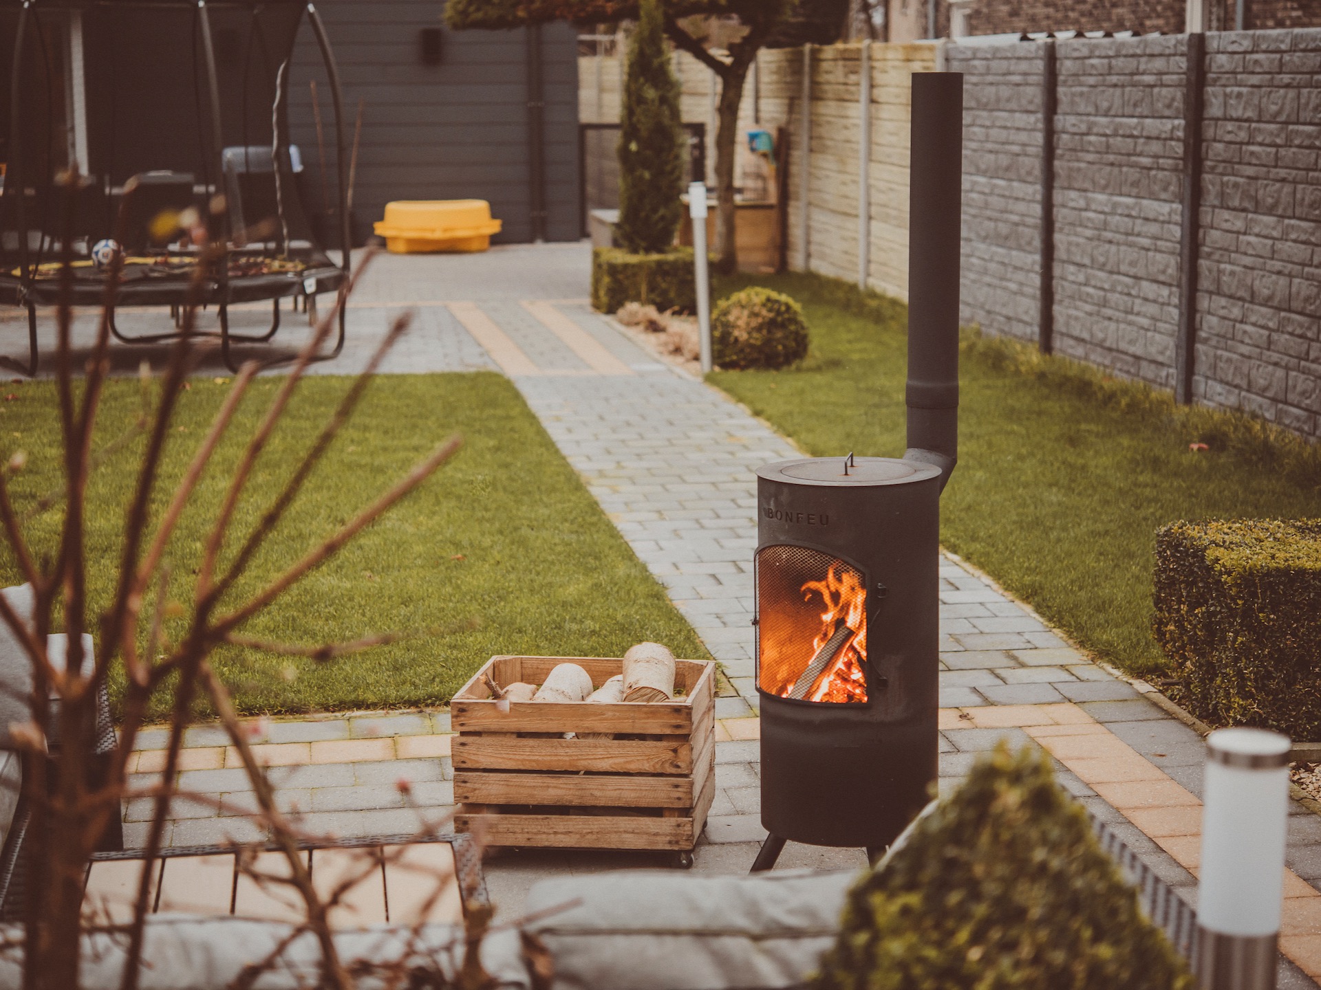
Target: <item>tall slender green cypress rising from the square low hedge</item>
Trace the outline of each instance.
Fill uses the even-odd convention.
[[[637,255],[674,243],[683,205],[683,128],[679,82],[670,69],[660,0],[638,4],[629,45],[620,129],[620,223],[616,238]]]

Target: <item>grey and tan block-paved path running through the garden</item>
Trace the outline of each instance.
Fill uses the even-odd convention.
[[[522,256],[520,256],[522,257]],[[530,296],[517,280],[487,297],[462,285],[423,284],[417,259],[384,259],[365,306],[416,300],[431,313],[410,370],[495,367],[517,383],[559,449],[670,593],[732,692],[717,701],[717,796],[699,871],[741,873],[764,838],[758,817],[757,694],[753,686],[752,556],[756,546],[753,470],[798,455],[793,445],[719,391],[641,350],[569,290]],[[487,267],[498,268],[498,257]],[[585,257],[580,259],[585,271]],[[556,264],[563,256],[556,256]],[[439,271],[440,263],[431,261]],[[480,265],[478,265],[480,268]],[[378,269],[378,271],[380,271]],[[494,271],[494,269],[493,269]],[[506,273],[507,275],[507,273]],[[503,276],[502,276],[503,277]],[[550,288],[556,288],[555,282]],[[369,286],[370,288],[370,286]],[[547,288],[538,285],[536,288]],[[577,288],[577,293],[573,289]],[[375,312],[374,310],[374,312]],[[369,350],[366,333],[342,362],[353,371]],[[1000,739],[1042,746],[1061,784],[1181,895],[1192,899],[1199,849],[1201,737],[1144,698],[1151,689],[1115,677],[1046,627],[992,581],[946,556],[941,561],[939,785],[954,787],[979,752]],[[407,830],[417,816],[452,807],[449,723],[443,711],[338,714],[271,721],[259,751],[276,767],[281,803],[309,829],[341,836]],[[143,738],[135,770],[149,783],[162,737]],[[214,803],[189,805],[170,822],[173,845],[254,838],[235,812],[251,796],[234,754],[211,727],[190,730],[181,783]],[[399,785],[407,780],[407,787]],[[129,841],[145,825],[141,804],[125,808]],[[790,843],[791,866],[861,866],[860,850]],[[517,911],[535,879],[621,866],[649,866],[647,854],[523,851],[487,866],[495,899]],[[1321,817],[1291,805],[1281,987],[1316,986],[1321,974]]]

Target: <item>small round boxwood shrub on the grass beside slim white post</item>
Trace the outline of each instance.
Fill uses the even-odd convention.
[[[803,310],[782,292],[742,289],[711,317],[711,358],[721,368],[782,368],[806,354]]]

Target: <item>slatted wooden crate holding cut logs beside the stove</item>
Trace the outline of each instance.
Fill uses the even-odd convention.
[[[716,665],[675,661],[674,701],[530,701],[507,711],[482,677],[542,684],[561,663],[594,686],[624,668],[602,657],[495,656],[450,701],[456,829],[489,846],[691,850],[716,795]]]

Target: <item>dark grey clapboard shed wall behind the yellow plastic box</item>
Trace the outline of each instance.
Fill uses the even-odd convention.
[[[339,66],[350,141],[358,100],[365,100],[355,236],[370,235],[371,222],[382,218],[391,199],[476,198],[489,199],[491,214],[503,220],[497,243],[531,240],[526,29],[444,29],[441,62],[425,66],[419,32],[443,26],[443,1],[320,0],[317,9]],[[575,240],[580,227],[577,38],[567,24],[546,25],[540,37],[546,236]],[[312,170],[313,190],[320,176],[308,82],[317,81],[333,194],[330,96],[306,24],[291,77],[291,136]]]

